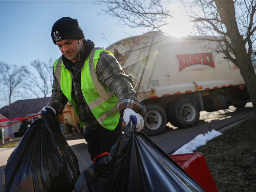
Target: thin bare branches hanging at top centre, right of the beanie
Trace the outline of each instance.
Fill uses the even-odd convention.
[[[106,14],[119,18],[130,27],[147,27],[150,31],[161,31],[171,18],[170,10],[161,0],[95,0],[97,4],[107,4]]]

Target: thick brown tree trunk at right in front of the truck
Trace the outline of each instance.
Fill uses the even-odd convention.
[[[227,35],[236,56],[237,67],[240,68],[242,77],[251,98],[254,113],[256,114],[256,74],[248,56],[245,43],[241,38],[236,22],[236,12],[233,0],[214,0],[222,23],[226,26]]]

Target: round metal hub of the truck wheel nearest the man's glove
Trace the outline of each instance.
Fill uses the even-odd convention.
[[[155,130],[162,124],[161,114],[157,111],[150,111],[145,116],[145,124],[148,128]]]

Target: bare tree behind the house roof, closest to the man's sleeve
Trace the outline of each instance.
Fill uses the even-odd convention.
[[[31,66],[35,68],[37,74],[29,72],[26,75],[26,81],[23,83],[23,88],[30,90],[36,97],[46,97],[52,90],[52,58],[49,59],[48,63],[34,60]]]

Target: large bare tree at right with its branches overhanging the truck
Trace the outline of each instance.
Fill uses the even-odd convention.
[[[163,8],[161,0],[96,0],[107,4],[103,10],[120,18],[130,27],[147,27],[161,31],[167,25],[166,19],[172,17],[170,10]],[[256,30],[256,0],[193,0],[184,3],[191,21],[195,22],[191,39],[216,42],[211,48],[223,53],[244,78],[256,113],[256,75],[252,62]],[[186,1],[188,2],[188,1]]]

